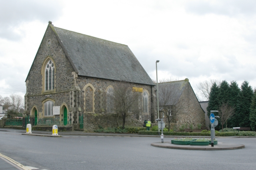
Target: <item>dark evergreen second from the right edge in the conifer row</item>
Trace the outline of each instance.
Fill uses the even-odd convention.
[[[249,86],[247,81],[242,82],[241,85],[241,102],[240,102],[240,114],[241,121],[239,123],[240,127],[250,127],[250,107],[252,103],[253,90]]]

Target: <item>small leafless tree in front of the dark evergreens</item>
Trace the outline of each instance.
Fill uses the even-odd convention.
[[[234,107],[231,107],[228,105],[228,103],[223,103],[219,108],[219,116],[220,116],[220,122],[222,125],[222,131],[223,131],[223,125],[227,123],[228,119],[234,115]]]

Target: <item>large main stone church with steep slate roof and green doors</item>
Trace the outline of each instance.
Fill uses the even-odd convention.
[[[141,112],[127,125],[155,119],[154,83],[127,45],[58,28],[49,21],[26,78],[25,112],[34,128],[60,130],[116,127],[108,100],[118,83],[139,92]]]

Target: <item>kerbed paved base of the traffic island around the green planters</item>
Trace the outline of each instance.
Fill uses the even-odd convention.
[[[151,143],[153,147],[160,147],[160,148],[168,148],[168,149],[187,149],[187,150],[230,150],[230,149],[242,149],[245,146],[242,144],[236,143],[218,143],[218,145],[211,145],[207,146],[195,146],[195,145],[176,145],[172,144],[171,142],[156,142]]]

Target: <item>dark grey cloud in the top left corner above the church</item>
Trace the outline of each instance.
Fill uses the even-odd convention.
[[[61,16],[62,8],[56,0],[0,0],[0,38],[19,40],[24,33],[18,34],[13,29],[34,20],[54,21]]]

